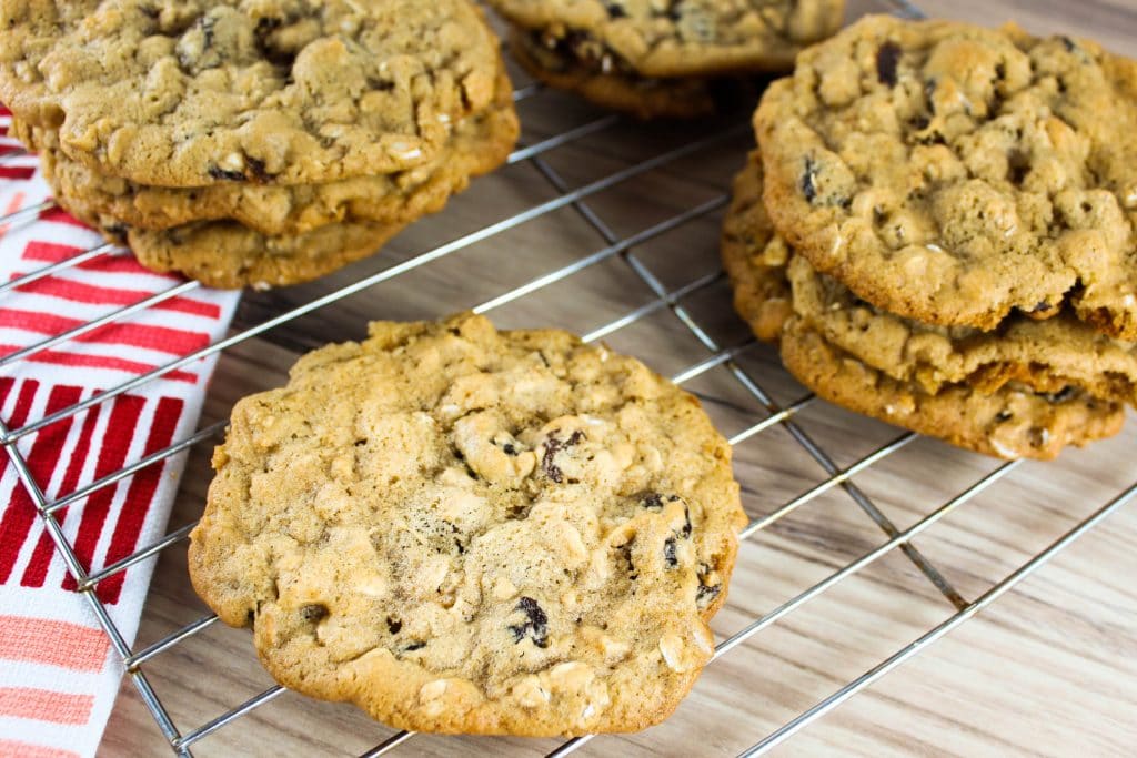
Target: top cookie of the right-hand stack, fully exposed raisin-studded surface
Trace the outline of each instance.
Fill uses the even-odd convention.
[[[1069,38],[869,17],[755,114],[778,231],[887,311],[1137,340],[1137,64]]]

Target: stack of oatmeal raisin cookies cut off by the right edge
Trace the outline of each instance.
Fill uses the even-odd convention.
[[[1003,458],[1137,405],[1137,64],[1009,26],[870,17],[755,114],[723,258],[789,370]]]

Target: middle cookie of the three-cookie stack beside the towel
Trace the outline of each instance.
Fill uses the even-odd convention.
[[[517,140],[513,90],[505,73],[495,102],[457,123],[439,156],[422,166],[325,184],[229,182],[205,188],[155,188],[106,176],[69,159],[56,133],[14,123],[13,133],[38,149],[63,207],[105,227],[166,230],[200,220],[235,220],[266,235],[304,234],[333,223],[401,224],[435,213],[471,175],[501,165]]]

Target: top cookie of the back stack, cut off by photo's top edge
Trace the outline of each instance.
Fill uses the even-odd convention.
[[[490,0],[597,74],[672,78],[787,70],[845,17],[844,0]]]

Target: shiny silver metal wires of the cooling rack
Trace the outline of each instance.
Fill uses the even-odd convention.
[[[907,2],[907,0],[881,0],[889,6],[889,9],[894,13],[906,15],[910,17],[922,16],[920,9]],[[542,93],[542,88],[540,85],[529,85],[521,88],[515,92],[515,99],[517,101],[528,100],[530,98],[537,97]],[[766,416],[754,423],[740,432],[736,433],[731,439],[730,443],[732,445],[738,445],[752,438],[761,435],[773,428],[781,428],[792,438],[798,445],[812,458],[818,465],[820,465],[825,472],[825,478],[818,483],[815,486],[808,489],[807,491],[781,503],[780,507],[773,511],[752,520],[746,528],[742,531],[740,539],[748,540],[762,530],[778,523],[783,519],[798,508],[816,500],[827,492],[835,489],[844,490],[860,507],[864,514],[866,514],[875,525],[885,533],[887,540],[875,548],[864,552],[860,557],[845,563],[841,568],[829,574],[820,582],[816,582],[806,590],[799,592],[798,594],[787,599],[785,602],[775,607],[774,609],[754,618],[742,628],[735,632],[732,635],[722,640],[714,652],[714,658],[712,664],[720,658],[729,655],[732,650],[744,644],[755,635],[757,635],[763,630],[772,626],[777,622],[786,618],[792,614],[798,608],[808,603],[811,600],[820,597],[821,594],[829,591],[831,588],[838,585],[843,581],[856,575],[858,572],[863,570],[865,567],[872,565],[874,561],[881,559],[882,557],[890,555],[894,550],[899,550],[905,558],[911,561],[911,564],[922,574],[948,602],[954,607],[954,613],[948,616],[945,620],[939,624],[928,628],[918,639],[913,640],[911,643],[896,650],[893,655],[888,656],[881,660],[875,666],[869,668],[860,676],[852,678],[836,691],[833,691],[828,697],[815,702],[812,707],[803,710],[794,718],[787,720],[777,730],[770,732],[769,734],[762,736],[757,740],[749,749],[747,749],[742,755],[755,756],[762,755],[772,749],[773,747],[780,744],[795,733],[799,732],[802,728],[813,723],[818,718],[824,716],[825,714],[832,711],[835,708],[847,701],[857,692],[864,690],[866,686],[871,685],[873,682],[878,681],[885,674],[889,673],[897,666],[910,660],[914,656],[919,655],[928,645],[936,642],[940,638],[947,635],[953,630],[957,628],[968,619],[972,618],[984,608],[988,607],[990,603],[996,601],[1012,588],[1014,588],[1020,581],[1035,572],[1038,567],[1047,563],[1051,558],[1057,555],[1061,550],[1070,545],[1072,542],[1078,540],[1080,536],[1097,526],[1103,519],[1109,517],[1111,514],[1123,507],[1127,502],[1132,500],[1137,495],[1137,482],[1130,484],[1129,486],[1121,490],[1114,498],[1109,502],[1103,505],[1087,518],[1078,523],[1076,526],[1070,528],[1064,535],[1054,541],[1044,550],[1034,555],[1029,560],[1019,566],[1015,570],[1007,574],[1004,578],[996,582],[986,592],[980,594],[978,598],[968,600],[963,594],[957,591],[952,583],[945,578],[940,570],[922,555],[913,544],[914,538],[923,534],[929,528],[935,526],[937,523],[945,519],[948,515],[956,511],[958,508],[973,500],[981,492],[994,485],[999,480],[1004,478],[1007,474],[1014,470],[1020,464],[1019,463],[1007,463],[994,468],[987,474],[982,475],[978,480],[973,481],[970,485],[958,491],[954,497],[949,498],[946,502],[940,505],[938,508],[927,514],[923,518],[919,519],[911,526],[901,530],[898,528],[873,502],[873,500],[865,494],[855,483],[854,477],[869,469],[870,467],[879,464],[889,456],[893,456],[901,449],[907,447],[912,443],[916,435],[914,434],[903,434],[883,445],[878,447],[875,450],[869,455],[854,461],[852,465],[841,467],[835,463],[833,458],[823,449],[819,443],[816,443],[810,434],[807,434],[803,427],[795,420],[795,417],[800,414],[806,408],[813,405],[813,398],[806,395],[790,403],[779,403],[777,402],[772,393],[763,385],[761,380],[754,376],[754,372],[744,367],[739,361],[739,357],[749,350],[753,345],[753,341],[744,342],[736,345],[723,345],[712,336],[711,332],[700,324],[698,318],[692,315],[692,313],[684,305],[684,300],[690,295],[705,290],[709,285],[719,282],[722,278],[721,273],[713,273],[699,276],[692,281],[689,281],[680,286],[669,288],[659,276],[657,276],[653,269],[641,260],[637,253],[636,249],[644,245],[645,243],[655,240],[669,232],[680,228],[684,224],[688,224],[695,219],[703,218],[713,214],[716,210],[721,210],[727,201],[727,194],[720,194],[707,201],[704,201],[694,207],[687,208],[679,214],[675,214],[662,222],[658,222],[647,228],[642,228],[630,235],[620,236],[605,220],[601,218],[601,214],[596,210],[596,208],[590,205],[590,200],[594,195],[614,188],[628,180],[637,176],[641,176],[654,169],[665,167],[674,164],[683,158],[696,155],[699,150],[706,148],[707,145],[714,144],[732,135],[738,135],[745,132],[746,124],[736,124],[724,128],[723,131],[712,134],[703,140],[684,144],[682,147],[667,150],[659,155],[656,155],[647,160],[638,163],[636,165],[629,166],[621,170],[608,174],[594,182],[584,184],[578,189],[570,190],[566,181],[563,176],[553,168],[553,166],[546,160],[547,153],[550,151],[570,144],[572,142],[587,139],[588,136],[609,128],[614,124],[621,120],[620,116],[608,115],[590,120],[578,127],[563,131],[555,134],[548,139],[538,141],[536,143],[529,144],[526,147],[518,148],[509,157],[509,164],[529,164],[531,165],[549,184],[549,186],[556,192],[556,197],[553,199],[534,205],[524,211],[512,215],[507,218],[503,218],[496,223],[483,226],[474,232],[459,236],[458,239],[451,240],[445,244],[434,247],[430,250],[423,251],[414,257],[410,257],[397,265],[389,266],[379,270],[372,275],[360,278],[351,284],[337,289],[329,292],[322,297],[314,300],[305,302],[301,306],[289,309],[284,313],[280,313],[275,316],[266,318],[265,320],[256,324],[251,327],[244,328],[238,333],[231,334],[230,336],[215,342],[206,348],[202,348],[189,356],[180,358],[177,360],[171,361],[163,365],[147,374],[143,374],[134,380],[124,382],[118,386],[110,388],[105,392],[92,395],[86,400],[76,402],[75,405],[60,409],[58,411],[48,414],[38,418],[35,420],[30,420],[16,428],[9,428],[8,425],[0,420],[0,444],[3,445],[7,455],[9,456],[15,470],[18,474],[20,482],[24,488],[26,488],[28,494],[31,495],[38,511],[42,519],[47,533],[50,535],[55,543],[58,553],[61,556],[63,560],[66,563],[67,569],[74,577],[78,592],[86,599],[99,623],[102,625],[114,650],[118,653],[122,659],[124,670],[131,683],[138,690],[142,702],[149,709],[150,714],[153,716],[163,735],[168,741],[171,748],[176,755],[190,756],[192,747],[205,739],[206,736],[224,728],[225,726],[236,722],[242,716],[254,711],[255,709],[264,706],[265,703],[272,701],[284,692],[284,689],[276,685],[265,689],[257,695],[248,699],[247,701],[226,710],[216,718],[213,718],[204,724],[190,728],[183,728],[175,725],[174,719],[171,717],[167,708],[164,706],[163,701],[159,699],[157,692],[151,686],[151,683],[147,676],[146,668],[153,661],[155,658],[159,657],[163,652],[166,652],[174,648],[175,645],[189,640],[190,638],[199,634],[204,630],[211,626],[217,617],[213,614],[205,615],[197,620],[186,624],[176,632],[168,634],[164,639],[158,640],[144,648],[132,649],[123,638],[119,630],[116,627],[115,623],[110,618],[105,605],[97,597],[94,589],[100,582],[115,576],[122,572],[125,572],[136,564],[155,558],[166,548],[186,539],[189,532],[192,530],[194,524],[188,524],[181,528],[169,532],[163,539],[153,542],[152,544],[146,545],[134,553],[123,558],[111,565],[108,565],[99,570],[88,572],[81,565],[80,559],[76,557],[73,545],[68,542],[67,538],[61,531],[59,522],[56,518],[56,514],[68,506],[80,506],[82,501],[91,495],[92,493],[102,490],[105,488],[115,486],[117,483],[126,480],[127,477],[134,475],[135,473],[143,470],[148,466],[160,464],[166,458],[174,456],[176,453],[186,451],[194,445],[213,440],[221,433],[225,427],[225,422],[217,422],[207,426],[204,426],[196,433],[189,435],[183,440],[179,440],[175,443],[166,447],[165,449],[157,450],[150,455],[147,455],[138,460],[125,465],[121,469],[107,474],[80,489],[64,494],[61,497],[49,499],[44,494],[44,483],[38,482],[28,468],[27,461],[24,459],[23,455],[18,450],[16,443],[36,432],[50,426],[51,424],[85,411],[97,405],[103,403],[119,394],[135,390],[169,372],[173,372],[183,366],[190,365],[201,358],[207,356],[224,351],[229,348],[238,345],[251,338],[262,335],[275,330],[282,325],[292,322],[301,316],[312,314],[325,306],[334,303],[342,300],[351,294],[373,288],[382,282],[395,280],[404,274],[415,270],[429,263],[441,260],[451,253],[459,250],[470,248],[478,242],[495,238],[508,230],[515,228],[528,222],[538,219],[540,217],[553,214],[554,211],[571,208],[576,214],[583,218],[604,241],[603,248],[580,257],[572,263],[548,270],[542,275],[532,278],[518,286],[515,286],[495,298],[485,300],[481,305],[476,306],[474,310],[476,313],[489,313],[499,308],[506,303],[517,301],[522,298],[532,295],[540,290],[550,286],[557,282],[568,278],[574,274],[578,274],[589,267],[596,266],[601,261],[609,259],[621,259],[628,266],[628,268],[652,291],[653,299],[634,308],[621,317],[597,327],[584,335],[588,341],[599,340],[609,334],[613,334],[620,330],[623,330],[641,319],[655,314],[657,311],[670,310],[686,327],[691,336],[703,347],[703,349],[708,355],[707,358],[690,365],[686,369],[673,375],[673,380],[677,383],[686,383],[702,376],[712,369],[724,368],[733,377],[735,381],[745,390],[745,392],[750,395],[762,408],[765,409]],[[0,157],[0,163],[9,160],[11,157],[20,153],[8,153],[8,156]],[[9,214],[0,218],[0,225],[16,225],[20,223],[30,222],[36,218],[41,213],[48,210],[51,207],[51,202],[44,202],[35,207],[25,208],[16,213]],[[100,245],[94,249],[84,251],[80,255],[73,256],[68,259],[61,260],[59,263],[52,264],[50,266],[34,270],[27,275],[22,276],[6,283],[0,284],[0,295],[15,290],[22,285],[34,282],[39,278],[49,276],[51,274],[65,270],[86,261],[93,260],[102,256],[114,256],[124,255],[119,248],[115,248],[109,244]],[[184,294],[200,286],[196,282],[183,282],[176,284],[156,295],[141,300],[139,302],[125,306],[118,310],[106,314],[105,316],[85,323],[77,327],[74,327],[67,332],[57,334],[49,339],[45,339],[36,344],[20,350],[19,352],[0,358],[0,368],[6,365],[15,364],[16,361],[26,359],[27,357],[35,355],[40,351],[47,350],[55,345],[74,340],[83,334],[93,332],[101,328],[108,324],[114,324],[127,319],[133,314],[138,314],[147,308],[153,307],[155,305],[168,300],[171,298]],[[373,749],[365,752],[365,756],[380,756],[384,755],[400,744],[406,743],[408,740],[414,738],[412,732],[398,732],[380,744],[375,745]],[[573,740],[568,740],[561,744],[557,749],[551,751],[550,756],[565,756],[584,743],[589,742],[594,738],[580,736]]]

